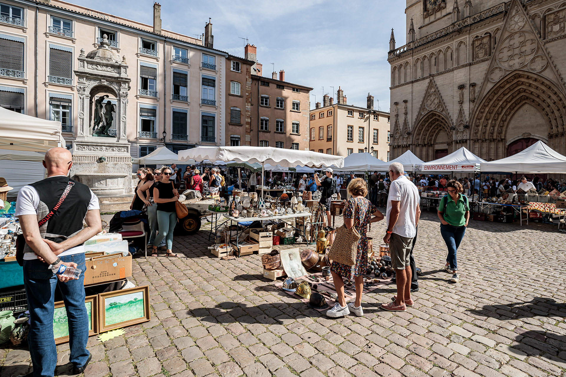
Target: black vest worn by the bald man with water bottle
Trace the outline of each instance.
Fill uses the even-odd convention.
[[[53,210],[69,181],[75,185],[71,187],[57,211],[40,227],[41,237],[44,239],[60,243],[83,228],[84,216],[91,202],[91,190],[85,184],[61,176],[49,177],[30,185],[39,195],[40,202],[37,207],[37,221],[39,221]],[[29,253],[33,250],[27,246],[24,252]]]

